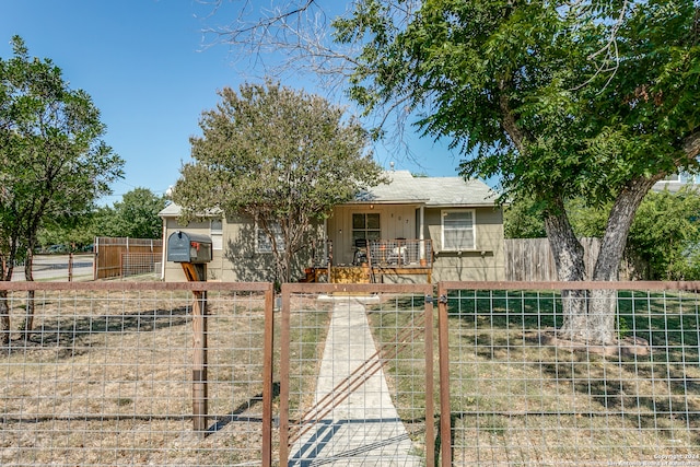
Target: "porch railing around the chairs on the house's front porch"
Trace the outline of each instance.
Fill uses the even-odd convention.
[[[370,242],[372,266],[430,268],[433,248],[430,240],[375,240]]]

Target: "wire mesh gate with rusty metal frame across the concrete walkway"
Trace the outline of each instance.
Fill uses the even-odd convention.
[[[280,465],[434,464],[431,294],[282,285]]]

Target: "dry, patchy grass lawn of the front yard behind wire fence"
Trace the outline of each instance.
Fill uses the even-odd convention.
[[[12,295],[15,328],[23,299]],[[557,300],[451,297],[454,465],[699,465],[697,297],[621,294],[620,335],[648,340],[652,352],[612,358],[540,341],[560,325]],[[37,292],[35,332],[25,342],[15,331],[1,350],[0,465],[259,465],[264,299],[209,294],[203,440],[191,431],[191,302],[189,292]],[[370,310],[377,345],[401,348],[385,374],[417,448],[423,335],[397,336],[422,307],[420,297],[393,297]],[[292,314],[292,419],[313,398],[329,318],[313,296],[293,310],[304,312]],[[439,407],[436,334],[434,345]]]

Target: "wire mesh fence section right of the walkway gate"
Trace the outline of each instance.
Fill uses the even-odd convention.
[[[611,346],[555,334],[560,290],[446,285],[454,465],[700,465],[700,300],[679,285],[612,290]]]

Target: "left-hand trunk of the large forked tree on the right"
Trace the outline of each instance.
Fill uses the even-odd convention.
[[[584,250],[569,223],[563,200],[558,199],[545,218],[547,238],[555,257],[557,280],[582,281],[585,279]],[[563,322],[559,334],[567,339],[582,339],[587,335],[585,290],[562,290]]]

